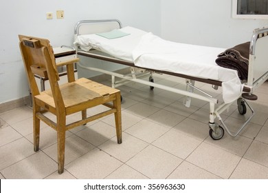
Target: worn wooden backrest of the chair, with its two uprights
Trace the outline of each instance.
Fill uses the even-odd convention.
[[[49,40],[19,35],[19,41],[32,95],[40,94],[34,78],[34,74],[38,74],[49,79],[55,105],[63,105],[63,98],[58,86],[58,70]]]

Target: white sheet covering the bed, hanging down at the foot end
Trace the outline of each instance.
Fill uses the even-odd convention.
[[[222,68],[215,63],[217,55],[225,49],[166,41],[137,28],[120,30],[130,35],[106,39],[97,34],[86,34],[78,36],[75,43],[82,50],[95,48],[113,57],[132,61],[138,67],[222,81],[225,103],[241,96],[243,84],[236,70]]]

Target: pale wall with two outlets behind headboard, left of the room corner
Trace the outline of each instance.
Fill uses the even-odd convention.
[[[65,19],[56,19],[56,10],[64,10]],[[47,20],[46,12],[54,19]],[[28,94],[18,34],[47,38],[56,47],[72,45],[74,26],[83,19],[120,19],[123,26],[160,34],[160,17],[160,0],[1,1],[0,103]]]

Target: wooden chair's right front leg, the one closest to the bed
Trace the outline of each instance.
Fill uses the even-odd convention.
[[[116,109],[116,112],[115,112],[116,136],[118,138],[118,144],[120,144],[122,143],[121,94],[120,92],[115,94],[115,101],[113,101],[113,106]]]

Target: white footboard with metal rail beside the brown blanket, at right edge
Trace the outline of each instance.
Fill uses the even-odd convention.
[[[249,47],[247,85],[258,88],[268,79],[268,28],[256,29]]]

